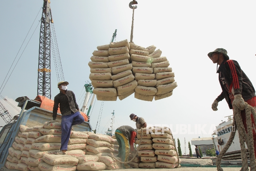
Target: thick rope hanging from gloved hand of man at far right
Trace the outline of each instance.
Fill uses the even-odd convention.
[[[233,139],[236,134],[236,129],[238,130],[239,135],[239,142],[241,147],[241,158],[242,158],[242,168],[241,171],[249,171],[248,169],[248,162],[247,162],[247,154],[246,154],[246,148],[245,148],[245,142],[248,147],[249,151],[249,157],[250,157],[250,171],[256,171],[256,163],[255,163],[255,155],[254,155],[254,140],[253,140],[253,130],[252,127],[255,129],[255,125],[252,125],[251,120],[251,113],[254,118],[254,122],[256,123],[256,113],[252,106],[250,106],[248,103],[245,102],[245,111],[246,111],[246,125],[247,125],[247,132],[245,130],[245,127],[242,122],[241,117],[241,110],[239,110],[234,104],[233,104],[233,127],[232,131],[229,137],[228,142],[226,143],[225,147],[222,149],[220,154],[217,157],[216,160],[216,166],[218,171],[223,171],[221,168],[221,158],[224,156],[226,151],[229,149],[230,145],[233,142]]]

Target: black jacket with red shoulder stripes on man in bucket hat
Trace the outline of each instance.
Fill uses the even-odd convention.
[[[237,61],[224,60],[219,66],[217,73],[219,73],[219,82],[221,84],[222,92],[216,98],[216,100],[219,102],[225,98],[229,104],[229,109],[232,109],[232,104],[229,98],[229,92],[225,89],[224,86],[228,86],[228,89],[232,91],[232,94],[242,94],[244,101],[247,101],[256,96],[251,81],[241,70]]]

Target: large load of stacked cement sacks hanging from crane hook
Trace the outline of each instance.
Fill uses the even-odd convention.
[[[154,45],[144,48],[128,40],[97,46],[88,63],[97,100],[123,100],[133,93],[144,101],[170,97],[177,83],[170,62],[161,55]]]

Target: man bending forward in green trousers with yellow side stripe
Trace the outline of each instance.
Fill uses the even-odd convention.
[[[134,142],[137,136],[137,131],[127,125],[120,126],[116,130],[115,136],[119,145],[117,157],[121,157],[122,161],[127,162],[129,153],[136,153],[136,149],[134,148]],[[127,163],[122,165],[126,169],[130,168]]]

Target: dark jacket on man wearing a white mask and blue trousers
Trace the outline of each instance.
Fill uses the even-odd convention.
[[[60,104],[60,113],[62,116],[69,115],[71,112],[76,113],[79,110],[79,107],[76,103],[75,94],[67,90],[66,94],[63,94],[61,91],[54,97],[54,105],[52,111],[53,120],[57,117],[57,110]]]

